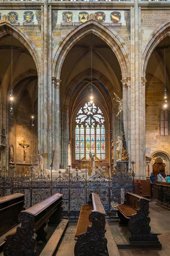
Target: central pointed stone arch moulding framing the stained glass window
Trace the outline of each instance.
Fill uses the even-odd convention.
[[[127,79],[130,74],[130,64],[127,54],[128,50],[124,41],[121,39],[117,32],[110,31],[107,27],[94,20],[87,21],[84,24],[76,27],[61,42],[53,59],[52,76],[56,77],[57,80],[60,80],[62,64],[67,53],[77,41],[89,33],[93,33],[94,35],[98,36],[110,46],[120,64],[122,79]]]

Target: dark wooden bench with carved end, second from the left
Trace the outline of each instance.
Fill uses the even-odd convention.
[[[62,219],[62,194],[55,194],[19,214],[21,226],[5,238],[4,256],[37,256],[38,241],[46,241],[44,227],[58,226]],[[34,237],[37,234],[37,238]],[[56,245],[57,246],[57,245]],[[48,254],[50,255],[50,254]]]

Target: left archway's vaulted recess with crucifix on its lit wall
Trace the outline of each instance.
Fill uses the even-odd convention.
[[[19,168],[25,166],[25,171],[28,171],[27,167],[35,163],[37,154],[37,68],[29,50],[9,34],[0,40],[0,55],[5,59],[5,62],[0,63],[0,87],[4,98],[1,129],[5,129],[8,145],[2,152],[2,162],[8,166],[11,160],[10,164]],[[10,98],[11,89],[13,100]],[[19,145],[23,140],[29,145],[25,158],[23,148]],[[10,145],[14,148],[13,158],[10,157]]]

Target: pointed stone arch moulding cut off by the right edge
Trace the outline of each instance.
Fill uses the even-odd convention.
[[[151,57],[152,52],[155,47],[166,37],[170,35],[170,22],[166,22],[161,24],[156,30],[154,30],[151,34],[150,39],[148,40],[148,44],[145,47],[145,50],[142,54],[142,76],[146,76],[146,68],[148,64],[148,60]]]

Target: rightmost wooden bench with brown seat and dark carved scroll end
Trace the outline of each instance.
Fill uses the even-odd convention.
[[[157,235],[151,233],[150,227],[150,217],[149,215],[149,202],[151,200],[138,196],[136,194],[126,193],[126,201],[123,205],[117,206],[118,208],[118,217],[120,218],[119,225],[126,226],[128,225],[128,229],[131,233],[131,237],[129,237],[129,243],[148,243],[161,244]]]

